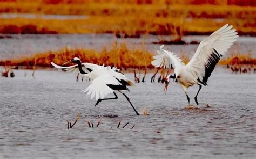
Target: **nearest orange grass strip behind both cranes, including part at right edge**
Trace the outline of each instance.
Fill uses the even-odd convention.
[[[27,68],[51,67],[50,62],[62,64],[73,57],[79,57],[83,62],[105,64],[108,66],[116,66],[118,68],[154,68],[151,65],[154,53],[150,53],[145,49],[128,49],[125,44],[112,45],[110,49],[103,48],[100,51],[92,49],[68,49],[64,48],[55,52],[38,53],[31,57],[24,57],[17,60],[0,61],[0,66],[23,66]],[[184,63],[190,61],[190,58],[183,53],[180,55]],[[232,54],[226,59],[221,59],[219,65],[251,65],[256,66],[256,59],[248,54]]]

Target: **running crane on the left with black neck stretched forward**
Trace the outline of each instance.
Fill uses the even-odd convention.
[[[82,90],[82,92],[87,92],[87,95],[91,94],[91,98],[95,97],[97,100],[95,106],[102,102],[102,100],[117,99],[118,97],[115,91],[119,91],[131,104],[136,114],[139,115],[139,113],[130,102],[130,99],[125,95],[124,92],[122,92],[122,90],[129,90],[127,86],[133,85],[133,83],[128,78],[126,78],[119,69],[115,67],[111,68],[110,66],[99,66],[93,63],[82,63],[78,57],[75,57],[63,64],[68,64],[71,62],[76,64],[69,67],[58,66],[53,62],[51,62],[51,64],[60,71],[73,71],[78,69],[80,74],[82,74],[84,77],[92,79],[93,81],[91,84],[86,89]],[[115,97],[104,98],[110,93],[113,93]]]

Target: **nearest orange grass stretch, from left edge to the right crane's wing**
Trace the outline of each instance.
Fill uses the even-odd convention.
[[[79,57],[83,62],[96,64],[105,64],[108,66],[116,66],[118,68],[152,68],[152,54],[147,50],[129,50],[125,44],[112,45],[109,50],[102,49],[97,52],[91,49],[68,49],[56,52],[38,53],[32,57],[24,57],[23,59],[0,62],[3,66],[33,66],[50,67],[50,62],[62,64],[70,60],[72,57]]]

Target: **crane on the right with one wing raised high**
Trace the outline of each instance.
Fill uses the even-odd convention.
[[[174,75],[167,77],[168,83],[170,78],[173,78],[180,84],[181,88],[186,93],[188,104],[190,104],[190,98],[187,95],[187,88],[194,84],[199,85],[197,95],[194,97],[198,105],[197,96],[202,88],[201,84],[204,86],[207,85],[207,80],[211,76],[214,67],[219,62],[220,57],[233,45],[234,41],[237,41],[238,33],[235,29],[232,29],[232,27],[232,25],[228,26],[228,24],[226,24],[219,28],[219,30],[213,32],[209,37],[203,39],[196,53],[186,65],[181,62],[182,60],[179,59],[179,57],[164,50],[164,45],[160,46],[160,50],[157,50],[157,55],[153,56],[155,60],[151,63],[156,68],[174,68]]]

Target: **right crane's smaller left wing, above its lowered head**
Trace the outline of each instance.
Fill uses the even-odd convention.
[[[182,60],[173,53],[163,49],[164,45],[160,46],[160,50],[157,50],[157,55],[153,56],[155,60],[151,61],[151,64],[156,68],[175,68],[178,65],[184,65]]]

